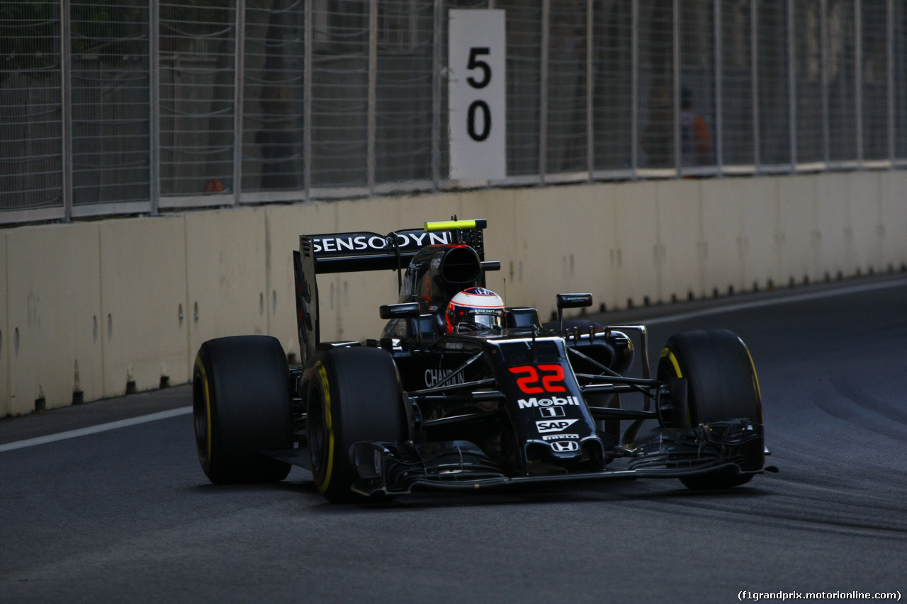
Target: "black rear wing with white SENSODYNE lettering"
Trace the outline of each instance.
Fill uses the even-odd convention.
[[[296,281],[296,319],[302,363],[315,355],[321,341],[316,276],[323,273],[396,270],[401,283],[403,270],[425,246],[463,243],[485,259],[484,219],[426,222],[423,229],[397,230],[387,235],[368,231],[300,235],[293,251]]]

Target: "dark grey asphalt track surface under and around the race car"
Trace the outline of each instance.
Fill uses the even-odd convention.
[[[276,485],[211,485],[179,411],[10,444],[185,408],[179,386],[0,421],[0,601],[907,595],[907,278],[606,317],[648,317],[653,359],[678,331],[742,336],[781,472],[723,492],[639,480],[336,506],[299,469]]]

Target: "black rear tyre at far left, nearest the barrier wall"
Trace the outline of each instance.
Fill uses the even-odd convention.
[[[288,463],[259,451],[293,446],[289,370],[269,336],[234,336],[201,345],[192,371],[192,418],[201,468],[215,484],[276,482]]]

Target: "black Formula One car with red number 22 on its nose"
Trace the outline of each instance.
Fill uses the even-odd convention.
[[[193,372],[199,459],[211,482],[307,468],[330,502],[419,490],[678,478],[727,488],[766,470],[752,358],[727,330],[668,339],[653,377],[646,327],[558,322],[485,287],[484,220],[300,237],[293,252],[301,367],[278,340],[205,342]],[[395,270],[380,338],[323,342],[317,275]],[[635,336],[635,339],[629,335]],[[641,375],[630,376],[636,341]],[[631,399],[639,404],[631,405]],[[639,438],[640,426],[657,427]],[[642,442],[638,442],[638,440]]]

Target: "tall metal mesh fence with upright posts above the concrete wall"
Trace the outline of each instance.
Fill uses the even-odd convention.
[[[507,15],[489,186],[907,165],[896,0],[5,0],[0,223],[454,189],[449,8]]]

